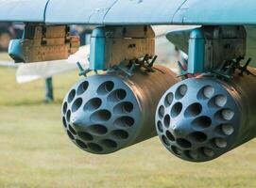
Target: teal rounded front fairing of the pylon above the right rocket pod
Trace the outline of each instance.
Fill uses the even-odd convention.
[[[191,31],[188,52],[188,73],[204,71],[205,39],[201,28]]]

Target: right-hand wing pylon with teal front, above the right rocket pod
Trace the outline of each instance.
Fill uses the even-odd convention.
[[[246,56],[244,26],[202,26],[190,32],[188,73],[219,70],[223,62]]]

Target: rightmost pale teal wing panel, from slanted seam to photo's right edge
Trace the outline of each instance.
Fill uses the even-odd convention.
[[[256,24],[255,0],[187,0],[173,24]]]

